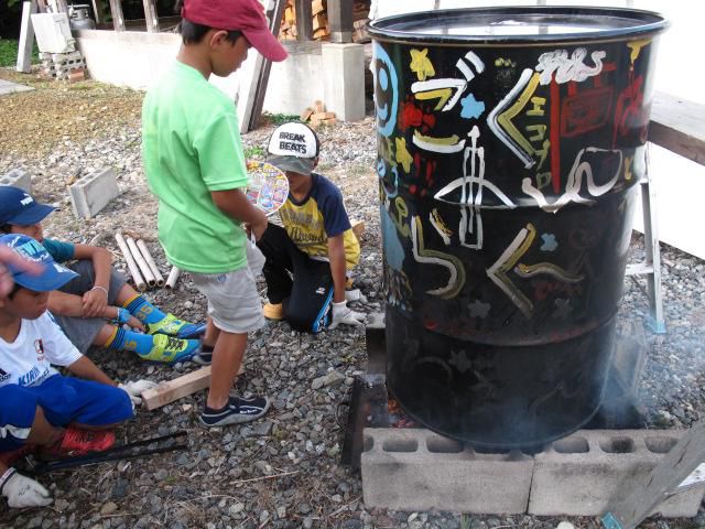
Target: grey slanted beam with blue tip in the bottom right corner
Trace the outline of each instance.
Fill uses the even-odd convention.
[[[634,529],[661,501],[705,461],[705,419],[695,422],[661,462],[641,479],[627,479],[621,489],[631,490],[607,508],[603,525],[608,529]]]

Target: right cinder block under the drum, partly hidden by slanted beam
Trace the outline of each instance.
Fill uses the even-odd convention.
[[[630,484],[661,461],[684,430],[581,430],[534,456],[529,512],[538,516],[599,516],[622,499]],[[705,484],[703,484],[705,485]],[[701,485],[661,503],[664,517],[694,517]]]

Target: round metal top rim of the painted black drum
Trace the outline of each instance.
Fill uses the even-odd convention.
[[[511,17],[582,17],[594,20],[596,17],[618,17],[631,19],[634,25],[625,28],[605,28],[589,33],[552,33],[527,35],[438,35],[433,33],[411,32],[394,30],[394,24],[409,23],[419,20],[437,20],[443,18],[457,18],[458,15],[511,15]],[[395,14],[372,20],[367,24],[367,31],[372,39],[386,42],[411,42],[414,44],[446,44],[446,45],[545,45],[563,43],[565,41],[576,44],[626,41],[633,37],[655,35],[665,31],[670,22],[655,11],[607,8],[607,7],[567,7],[567,6],[514,6],[506,8],[459,8],[443,9],[436,11],[420,11],[413,13]]]

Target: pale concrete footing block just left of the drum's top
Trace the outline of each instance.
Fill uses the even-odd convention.
[[[326,109],[340,121],[365,119],[365,46],[324,43],[321,61]]]

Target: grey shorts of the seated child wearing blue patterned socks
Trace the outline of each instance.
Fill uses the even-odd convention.
[[[72,279],[64,287],[58,289],[66,294],[84,295],[93,289],[96,276],[93,269],[93,262],[82,259],[73,264],[68,264],[74,272],[78,273],[77,278]],[[124,287],[124,278],[121,273],[112,270],[110,272],[110,285],[108,287],[108,304],[115,305],[118,293]],[[100,317],[73,317],[52,314],[58,326],[62,327],[66,337],[80,350],[86,354],[93,345],[100,330],[106,325],[106,321]]]

